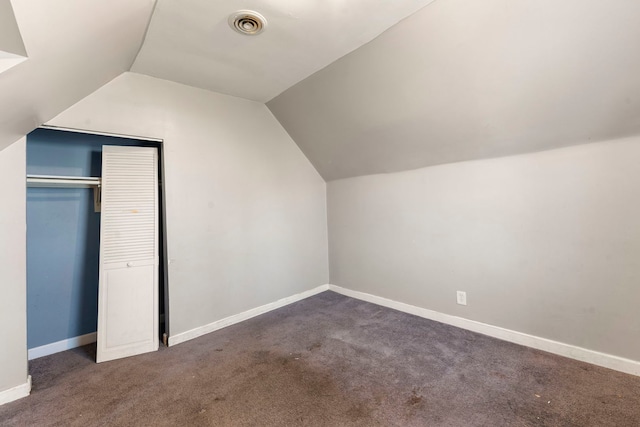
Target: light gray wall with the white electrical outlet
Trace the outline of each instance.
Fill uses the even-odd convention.
[[[331,283],[640,360],[639,159],[636,137],[330,182]]]

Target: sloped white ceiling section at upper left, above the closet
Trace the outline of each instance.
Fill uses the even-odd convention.
[[[0,150],[127,71],[154,0],[11,4],[28,59],[0,74]]]

